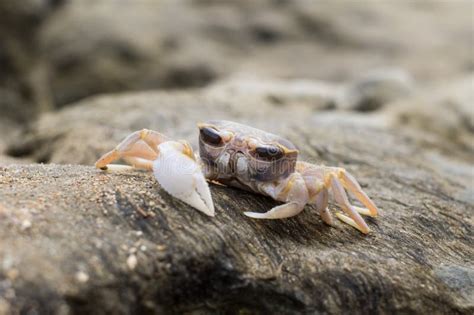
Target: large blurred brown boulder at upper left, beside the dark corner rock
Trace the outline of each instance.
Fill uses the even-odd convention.
[[[218,71],[217,61],[211,62],[212,47],[183,47],[188,36],[180,36],[180,30],[189,30],[196,19],[186,10],[170,12],[168,7],[153,1],[68,2],[40,35],[49,56],[55,104],[101,92],[192,87],[211,81]]]

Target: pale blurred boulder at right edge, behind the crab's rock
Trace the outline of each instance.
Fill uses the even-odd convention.
[[[474,75],[470,74],[418,91],[413,97],[390,104],[387,117],[400,129],[413,128],[424,146],[450,152],[461,147],[474,153]],[[420,132],[421,131],[421,132]],[[469,160],[469,157],[467,157]]]

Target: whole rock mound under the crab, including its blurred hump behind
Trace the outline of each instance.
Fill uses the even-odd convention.
[[[228,187],[212,185],[217,214],[209,218],[170,197],[148,173],[7,165],[0,168],[0,308],[472,313],[474,200],[466,174],[473,160],[465,146],[439,149],[433,143],[442,134],[416,124],[399,128],[403,121],[392,110],[403,106],[320,111],[308,99],[282,102],[262,89],[92,98],[43,116],[10,151],[91,164],[132,130],[195,142],[195,122],[238,120],[288,137],[304,160],[353,173],[381,209],[367,220],[370,235],[339,222],[326,226],[310,206],[291,219],[249,219],[243,211],[276,203]]]

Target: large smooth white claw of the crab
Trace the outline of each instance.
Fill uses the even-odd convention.
[[[209,186],[188,143],[167,141],[158,146],[153,173],[170,195],[188,205],[214,216]]]

